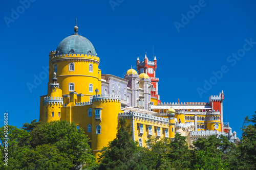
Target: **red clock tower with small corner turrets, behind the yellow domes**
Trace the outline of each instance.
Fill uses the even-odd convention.
[[[139,75],[142,73],[147,74],[151,79],[151,98],[157,99],[157,104],[161,104],[160,95],[158,94],[158,82],[159,79],[156,78],[156,69],[157,69],[157,59],[156,56],[154,61],[148,61],[146,55],[144,61],[140,62],[139,56],[137,58],[137,70]]]

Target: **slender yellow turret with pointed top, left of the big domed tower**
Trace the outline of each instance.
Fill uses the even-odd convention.
[[[57,80],[56,73],[54,72],[54,77],[52,78],[52,83],[50,84],[50,91],[48,96],[44,97],[42,106],[44,114],[40,115],[40,120],[42,120],[42,122],[51,122],[53,120],[60,119],[63,100],[62,90],[59,89]]]

